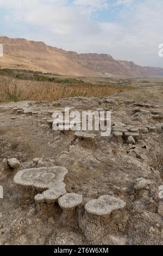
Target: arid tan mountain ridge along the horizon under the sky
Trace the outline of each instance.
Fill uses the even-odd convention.
[[[4,57],[0,69],[21,69],[67,76],[85,77],[163,77],[162,68],[142,67],[109,54],[64,51],[43,42],[0,36]]]

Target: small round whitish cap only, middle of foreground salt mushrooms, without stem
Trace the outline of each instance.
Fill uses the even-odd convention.
[[[67,193],[58,200],[61,209],[74,209],[83,203],[83,196],[76,193]]]

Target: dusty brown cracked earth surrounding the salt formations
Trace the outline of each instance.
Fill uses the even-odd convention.
[[[137,129],[135,144],[128,144],[124,134],[115,137],[114,126],[109,137],[97,133],[96,145],[75,140],[72,131],[53,131],[47,120],[65,106],[80,111],[110,110],[112,125],[121,122],[118,130],[122,123],[124,128]],[[163,200],[159,197],[163,185],[161,82],[142,86],[137,81],[131,92],[104,99],[2,103],[0,116],[0,184],[4,189],[4,199],[0,199],[1,245],[163,245]],[[7,164],[13,157],[20,161],[16,169]],[[62,222],[58,202],[50,211],[46,203],[38,210],[34,200],[20,197],[13,181],[22,169],[53,166],[67,168],[67,193],[83,195],[73,225]],[[85,204],[103,195],[123,200],[125,209],[113,211],[105,221],[85,218]]]

